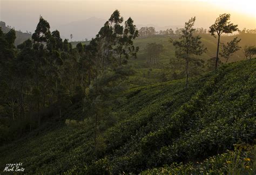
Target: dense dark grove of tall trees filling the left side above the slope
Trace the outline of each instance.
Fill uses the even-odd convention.
[[[138,47],[133,45],[133,40],[138,37],[138,31],[131,18],[124,27],[122,22],[120,12],[114,11],[95,39],[88,45],[78,43],[75,48],[67,39],[60,38],[58,30],[51,31],[42,16],[32,40],[24,41],[17,48],[15,31],[11,29],[4,34],[0,30],[0,73],[4,85],[0,112],[4,114],[1,117],[4,141],[22,137],[51,117],[61,118],[72,103],[83,100],[86,88],[108,78],[101,75],[105,70],[116,68],[119,75],[129,76],[122,64],[137,56]],[[102,86],[99,89],[106,88],[99,86]],[[17,128],[12,127],[16,126],[15,122]],[[13,132],[10,137],[9,132]]]

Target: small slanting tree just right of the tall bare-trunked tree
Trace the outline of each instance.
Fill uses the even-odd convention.
[[[220,52],[221,57],[224,57],[226,59],[226,63],[230,56],[240,50],[240,46],[238,45],[241,39],[237,39],[235,37],[232,41],[227,43],[226,45],[222,45],[222,52]]]

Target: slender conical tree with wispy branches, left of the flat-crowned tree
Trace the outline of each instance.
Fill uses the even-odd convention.
[[[186,61],[185,64],[185,72],[186,72],[186,88],[188,85],[188,63],[190,61],[197,61],[197,59],[193,59],[192,55],[201,55],[206,51],[204,45],[201,44],[201,37],[193,36],[193,29],[194,22],[196,17],[191,18],[188,22],[185,23],[185,27],[182,30],[182,35],[179,40],[172,41],[174,47],[176,48],[176,57],[183,58]]]

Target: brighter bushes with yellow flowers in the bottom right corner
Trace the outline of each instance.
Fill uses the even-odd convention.
[[[254,174],[256,146],[235,145],[234,151],[227,151],[199,163],[173,163],[170,166],[147,170],[141,174]]]

